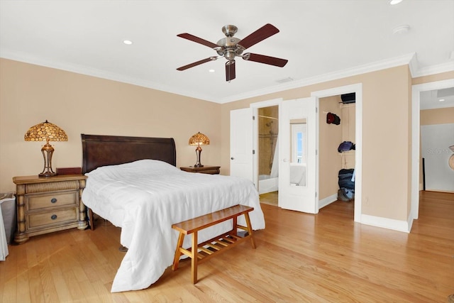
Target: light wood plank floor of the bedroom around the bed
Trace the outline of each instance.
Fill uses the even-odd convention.
[[[61,231],[9,246],[0,302],[447,302],[454,293],[454,194],[421,192],[411,233],[353,222],[353,203],[319,214],[262,204],[257,248],[167,269],[147,290],[111,294],[120,230]],[[153,252],[150,252],[153,253]]]

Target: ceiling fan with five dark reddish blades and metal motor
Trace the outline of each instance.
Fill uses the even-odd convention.
[[[201,65],[206,62],[218,60],[221,57],[225,57],[226,62],[226,81],[230,81],[235,79],[235,57],[242,57],[243,60],[246,61],[254,61],[259,63],[264,63],[268,65],[275,65],[277,67],[284,67],[287,64],[288,60],[280,59],[277,57],[270,57],[265,55],[258,55],[254,53],[245,53],[243,51],[251,46],[259,43],[266,38],[279,33],[279,30],[272,26],[271,24],[265,24],[257,31],[251,33],[246,38],[238,39],[233,37],[235,33],[238,31],[236,26],[227,25],[223,26],[222,32],[226,35],[226,38],[222,38],[218,40],[218,43],[211,43],[207,40],[202,38],[196,37],[195,35],[191,35],[190,33],[180,33],[177,35],[178,37],[194,41],[196,43],[200,43],[201,45],[206,45],[209,48],[213,48],[218,53],[218,56],[208,57],[206,59],[202,59],[197,62],[193,62],[188,65],[184,65],[182,67],[178,67],[177,70],[187,70],[190,67],[194,67],[197,65]]]

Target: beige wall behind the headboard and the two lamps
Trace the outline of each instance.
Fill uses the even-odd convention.
[[[221,105],[131,84],[0,59],[0,191],[12,177],[43,170],[41,143],[23,140],[28,128],[48,121],[63,128],[67,142],[55,147],[52,167],[80,167],[80,134],[173,137],[177,166],[194,165],[197,131],[210,138],[201,162],[220,165]]]

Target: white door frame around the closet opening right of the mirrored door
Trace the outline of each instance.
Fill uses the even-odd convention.
[[[362,205],[362,83],[346,85],[344,87],[334,87],[332,89],[323,89],[317,92],[311,92],[311,96],[324,98],[338,96],[355,92],[355,216],[354,221],[361,223],[361,205]],[[319,132],[319,126],[317,126]],[[319,150],[317,143],[317,150]],[[317,167],[317,172],[319,167]],[[319,185],[316,191],[319,192]]]

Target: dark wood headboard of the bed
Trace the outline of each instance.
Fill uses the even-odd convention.
[[[82,133],[82,173],[97,167],[136,160],[161,160],[177,165],[173,138],[99,136]]]

